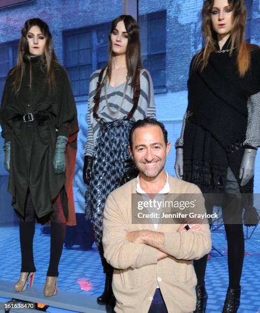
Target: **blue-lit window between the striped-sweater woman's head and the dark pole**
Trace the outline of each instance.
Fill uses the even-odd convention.
[[[153,78],[155,93],[166,92],[166,11],[139,15],[144,68]]]

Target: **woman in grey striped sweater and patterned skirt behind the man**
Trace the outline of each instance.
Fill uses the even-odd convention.
[[[132,124],[145,117],[155,117],[153,82],[142,69],[139,26],[130,15],[112,22],[107,66],[90,78],[88,133],[84,156],[83,180],[86,191],[86,218],[91,219],[106,275],[99,304],[110,302],[113,267],[103,255],[103,210],[107,195],[126,180],[127,146]]]

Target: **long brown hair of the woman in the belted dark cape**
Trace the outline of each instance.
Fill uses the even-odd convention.
[[[40,18],[30,18],[25,22],[23,29],[21,30],[21,37],[18,47],[17,64],[13,69],[15,74],[14,89],[18,93],[25,73],[25,60],[30,60],[29,45],[27,41],[27,33],[33,26],[38,26],[41,33],[46,38],[46,44],[44,52],[41,55],[41,66],[46,69],[46,79],[49,83],[50,91],[55,87],[55,73],[54,66],[58,65],[58,60],[53,50],[52,35],[49,30],[49,26],[45,21]],[[31,62],[30,62],[30,81],[31,75]],[[31,84],[30,84],[31,85]]]

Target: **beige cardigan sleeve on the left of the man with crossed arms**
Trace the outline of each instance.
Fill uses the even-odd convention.
[[[127,212],[125,212],[126,216]],[[125,216],[122,214],[113,195],[106,199],[103,219],[103,247],[106,261],[113,267],[124,270],[131,267],[157,263],[157,249],[144,243],[126,240],[129,231]]]

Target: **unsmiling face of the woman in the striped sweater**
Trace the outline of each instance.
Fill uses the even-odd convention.
[[[111,41],[112,51],[115,55],[122,55],[126,53],[128,34],[123,20],[117,23],[116,28],[111,33]]]

